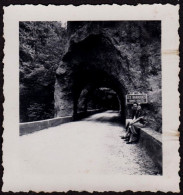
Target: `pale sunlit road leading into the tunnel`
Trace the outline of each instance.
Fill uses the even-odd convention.
[[[125,144],[117,112],[107,111],[20,137],[20,166],[39,174],[157,174],[139,144]]]

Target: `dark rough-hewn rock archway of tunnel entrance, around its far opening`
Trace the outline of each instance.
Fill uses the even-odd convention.
[[[110,37],[98,33],[77,42],[71,40],[56,72],[55,116],[77,118],[79,112],[87,111],[88,97],[91,99],[92,94],[101,92],[101,88],[104,92],[107,88],[111,90],[111,104],[118,107],[125,123],[125,95],[131,84],[128,61],[121,56]]]

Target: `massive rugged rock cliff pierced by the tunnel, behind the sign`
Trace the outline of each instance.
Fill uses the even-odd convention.
[[[71,21],[67,34],[68,49],[56,70],[55,116],[75,117],[88,106],[110,109],[99,105],[100,89],[107,88],[114,92],[112,109],[118,107],[125,123],[130,108],[125,96],[145,93],[148,104],[143,109],[150,116],[149,125],[161,131],[161,23]]]

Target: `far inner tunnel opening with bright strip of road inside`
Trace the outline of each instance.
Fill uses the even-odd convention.
[[[111,88],[99,87],[92,93],[83,89],[78,99],[78,119],[85,118],[85,121],[123,125],[120,110],[120,98]]]

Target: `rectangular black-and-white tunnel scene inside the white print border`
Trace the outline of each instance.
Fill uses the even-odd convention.
[[[162,174],[160,21],[20,22],[19,41],[28,164]]]

